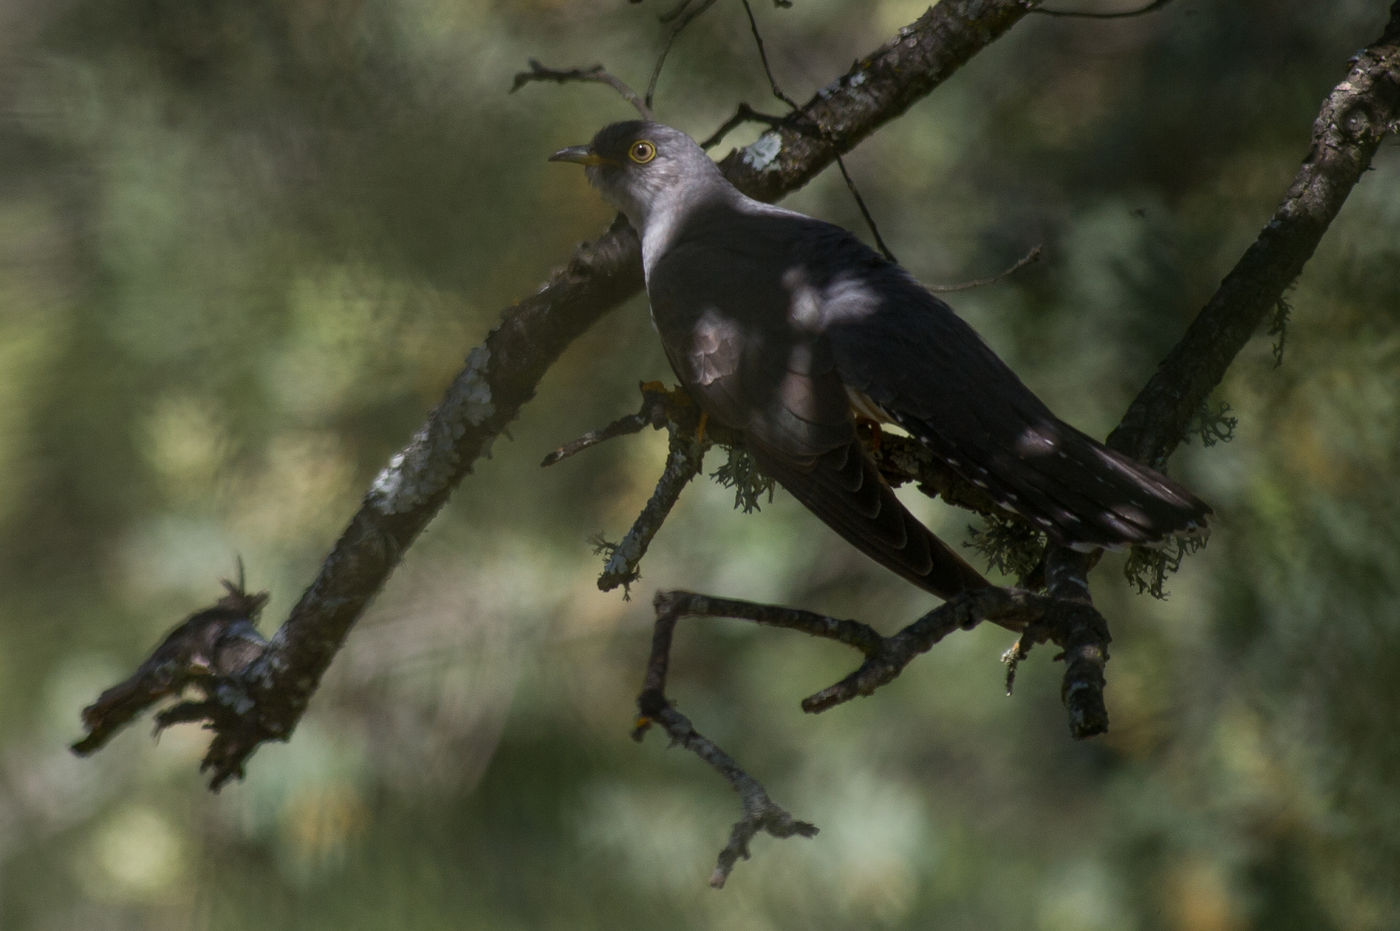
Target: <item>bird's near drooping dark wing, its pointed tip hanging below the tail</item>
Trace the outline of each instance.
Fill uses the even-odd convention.
[[[785,217],[700,216],[651,267],[652,319],[701,410],[760,468],[881,564],[948,598],[986,585],[900,504],[855,437]]]

